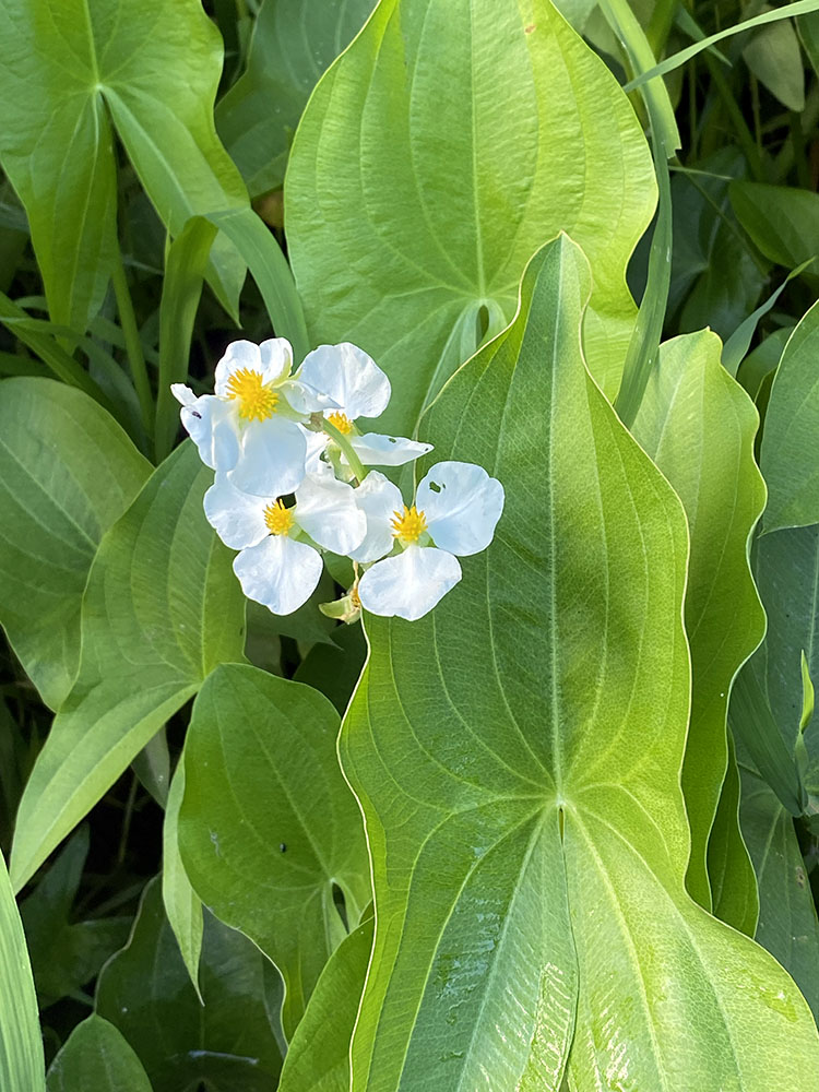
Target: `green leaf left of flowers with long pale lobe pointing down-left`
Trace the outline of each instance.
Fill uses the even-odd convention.
[[[17,815],[19,888],[223,661],[240,660],[245,598],[186,442],[103,539],[83,601],[82,657]]]

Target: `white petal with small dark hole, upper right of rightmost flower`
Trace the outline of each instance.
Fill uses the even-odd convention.
[[[436,546],[468,557],[492,541],[503,511],[503,486],[475,463],[437,463],[418,486],[415,506]]]

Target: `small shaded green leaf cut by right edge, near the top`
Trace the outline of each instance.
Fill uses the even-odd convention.
[[[795,186],[734,181],[728,187],[737,219],[765,258],[794,269],[819,254],[819,193]],[[816,283],[816,263],[803,276]]]

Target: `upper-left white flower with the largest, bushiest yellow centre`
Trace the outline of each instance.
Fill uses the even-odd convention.
[[[292,492],[305,476],[307,442],[298,423],[334,403],[290,376],[293,349],[284,337],[254,345],[236,341],[216,365],[215,394],[195,397],[171,387],[182,425],[202,462],[227,474],[244,492]]]

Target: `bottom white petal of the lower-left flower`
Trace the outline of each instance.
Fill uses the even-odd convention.
[[[307,543],[286,535],[269,535],[258,546],[237,554],[234,572],[249,600],[273,614],[292,614],[316,591],[321,555]]]

